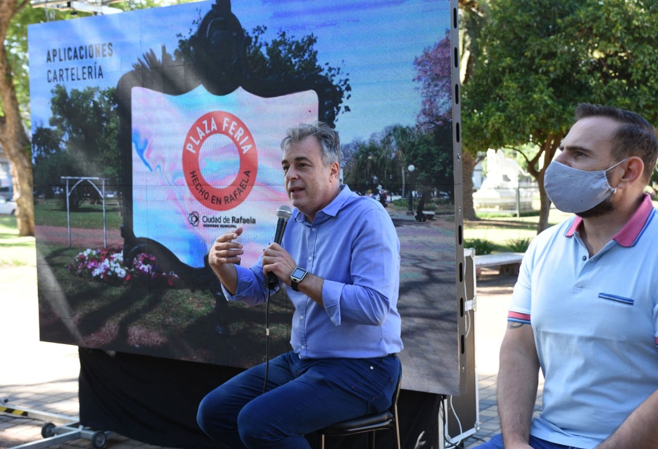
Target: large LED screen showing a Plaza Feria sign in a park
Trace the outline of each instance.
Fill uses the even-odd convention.
[[[290,205],[286,128],[323,120],[401,242],[404,388],[459,394],[455,11],[218,0],[30,26],[41,340],[245,368],[289,350],[284,290],[266,341],[207,254],[241,226],[258,259]]]

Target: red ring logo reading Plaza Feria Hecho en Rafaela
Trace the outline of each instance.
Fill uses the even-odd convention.
[[[223,134],[230,138],[240,153],[240,171],[230,186],[216,188],[201,174],[199,153],[209,136]],[[258,153],[249,128],[233,114],[224,111],[207,113],[191,126],[183,144],[183,171],[194,198],[209,209],[227,211],[247,199],[258,172]]]

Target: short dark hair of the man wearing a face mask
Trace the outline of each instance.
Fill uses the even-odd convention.
[[[644,161],[643,178],[649,182],[658,159],[658,132],[639,114],[613,106],[580,103],[576,120],[585,117],[609,117],[621,124],[613,138],[613,155],[619,159],[637,156]]]

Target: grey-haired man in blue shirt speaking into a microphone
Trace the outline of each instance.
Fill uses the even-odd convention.
[[[227,448],[309,448],[304,435],[388,408],[401,369],[399,240],[388,213],[339,185],[340,141],[328,125],[291,128],[281,147],[295,207],[281,244],[241,267],[238,228],[209,253],[229,301],[262,304],[274,273],[295,306],[293,350],[199,405],[201,429]]]

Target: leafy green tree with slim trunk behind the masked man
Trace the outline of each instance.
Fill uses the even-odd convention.
[[[498,0],[490,20],[462,91],[463,136],[471,149],[520,151],[532,142],[540,151],[526,155],[528,171],[541,185],[577,103],[658,120],[658,52],[646,38],[658,32],[658,2]],[[542,226],[548,201],[540,194]]]

